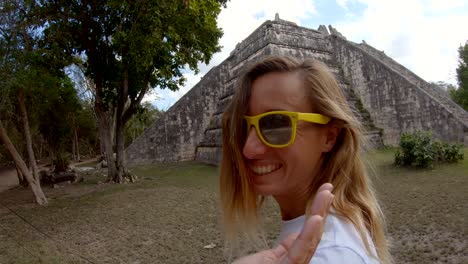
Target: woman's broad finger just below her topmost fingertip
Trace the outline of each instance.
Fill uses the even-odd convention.
[[[325,220],[319,215],[309,217],[304,228],[288,250],[282,263],[306,264],[309,263],[322,237]]]

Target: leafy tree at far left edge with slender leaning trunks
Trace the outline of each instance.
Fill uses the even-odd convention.
[[[37,129],[31,128],[43,122],[40,110],[50,107],[48,103],[71,84],[63,70],[71,57],[42,45],[36,8],[35,1],[22,0],[5,0],[0,6],[0,139],[16,164],[20,181],[26,179],[36,201],[46,204],[33,147],[32,134]],[[21,124],[29,168],[5,129],[5,124],[16,120]]]

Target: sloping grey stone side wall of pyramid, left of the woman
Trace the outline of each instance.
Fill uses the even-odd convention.
[[[225,64],[211,69],[126,149],[129,164],[193,160],[203,131],[225,92]]]

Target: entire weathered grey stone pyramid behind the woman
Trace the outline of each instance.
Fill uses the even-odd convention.
[[[468,144],[466,111],[383,52],[346,41],[332,27],[330,32],[283,20],[263,23],[127,148],[128,162],[196,159],[217,164],[222,156],[222,114],[239,75],[273,54],[312,57],[327,64],[352,108],[361,102],[366,113],[358,114],[370,116],[366,122],[376,129],[370,138],[385,145],[395,145],[402,132],[415,130],[432,130],[441,139]]]

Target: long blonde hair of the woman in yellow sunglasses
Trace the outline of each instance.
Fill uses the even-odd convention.
[[[245,141],[242,122],[253,81],[270,72],[300,73],[315,112],[329,116],[333,122],[341,125],[334,147],[324,154],[321,173],[312,180],[309,203],[321,184],[332,183],[334,213],[348,219],[356,227],[371,255],[374,254],[367,234],[375,245],[378,255],[375,257],[381,263],[392,263],[384,236],[383,214],[360,157],[360,123],[328,68],[312,59],[298,61],[274,56],[256,63],[240,79],[237,91],[224,113],[220,196],[228,245],[235,245],[241,235],[252,243],[261,240],[258,210],[263,197],[253,190],[241,152]],[[306,211],[306,214],[309,212]]]

